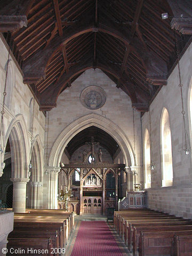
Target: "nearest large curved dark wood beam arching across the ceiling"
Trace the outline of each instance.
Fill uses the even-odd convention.
[[[55,52],[58,51],[58,47],[61,47],[62,44],[68,43],[71,39],[81,34],[95,31],[95,27],[89,26],[84,29],[79,28],[78,30],[77,30],[78,32],[71,31],[71,34],[63,35],[63,37],[55,37],[54,40],[50,42],[50,44],[45,49],[41,49],[38,53],[33,54],[31,58],[29,58],[27,61],[23,63],[23,73],[25,74],[25,76],[29,77],[31,73],[34,73],[34,74],[39,73],[39,70],[41,70],[41,72],[45,72],[45,67],[49,65],[49,59],[51,60]],[[115,36],[117,39],[121,39],[122,42],[125,42],[125,43],[130,42],[129,39],[127,39],[125,35],[123,35],[120,31],[116,31],[114,28],[109,28],[106,25],[99,24],[97,30],[101,31],[102,33],[107,33],[109,35]],[[148,63],[153,62],[152,67],[151,65],[147,66],[148,73],[151,74],[151,72],[154,73],[154,71],[156,75],[159,75],[159,72],[161,74],[165,73],[165,70],[167,70],[167,68],[164,67],[164,65],[166,66],[166,63],[163,63],[162,60],[159,60],[159,59],[156,60],[157,56],[155,55],[155,53],[145,51],[141,43],[138,45],[138,47],[135,47],[135,43],[138,45],[137,40],[135,41],[135,39],[133,39],[131,45],[139,53],[141,59],[143,59],[143,61],[146,60]],[[159,65],[159,63],[161,64]],[[161,70],[162,68],[164,71]]]

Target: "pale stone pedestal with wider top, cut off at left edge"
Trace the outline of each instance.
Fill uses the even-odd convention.
[[[6,248],[7,236],[13,230],[14,213],[12,211],[0,211],[0,255],[6,255],[3,248]]]

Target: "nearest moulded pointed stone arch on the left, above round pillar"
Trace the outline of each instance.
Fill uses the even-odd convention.
[[[28,178],[29,141],[25,119],[17,115],[10,123],[5,141],[10,140],[12,178]]]

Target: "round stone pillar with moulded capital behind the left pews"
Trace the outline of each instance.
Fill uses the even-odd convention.
[[[13,182],[13,212],[26,211],[26,184],[27,178],[11,178]]]

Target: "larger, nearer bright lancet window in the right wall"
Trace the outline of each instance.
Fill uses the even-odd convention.
[[[166,108],[161,118],[162,186],[173,185],[172,146],[169,113]]]

